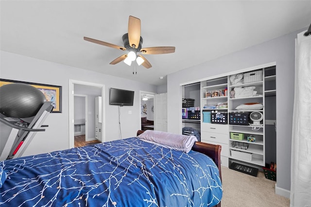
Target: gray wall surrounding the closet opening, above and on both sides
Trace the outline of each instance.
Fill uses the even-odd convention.
[[[303,30],[301,30],[303,31]],[[206,77],[276,62],[277,188],[291,188],[295,38],[301,31],[168,75],[168,131],[181,133],[181,86]],[[221,43],[219,43],[222,47]],[[191,76],[189,75],[191,73]],[[177,107],[180,106],[180,107]]]

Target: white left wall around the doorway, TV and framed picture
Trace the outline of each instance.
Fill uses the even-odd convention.
[[[35,155],[69,148],[69,79],[105,85],[105,94],[107,94],[105,97],[106,141],[120,138],[118,106],[109,105],[110,87],[135,91],[134,106],[121,107],[122,138],[134,137],[137,130],[140,129],[139,90],[156,92],[156,86],[153,85],[10,52],[1,51],[0,57],[0,78],[62,86],[62,113],[52,113],[48,116],[44,124],[48,124],[49,127],[45,132],[36,134],[24,155]],[[2,136],[2,134],[4,133],[0,135]],[[1,137],[0,139],[4,138]]]

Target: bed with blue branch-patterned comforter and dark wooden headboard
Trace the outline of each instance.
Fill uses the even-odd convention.
[[[0,161],[0,206],[220,206],[220,145],[185,153],[145,134]]]

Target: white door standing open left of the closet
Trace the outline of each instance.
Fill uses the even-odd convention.
[[[167,132],[167,93],[155,94],[155,130]]]

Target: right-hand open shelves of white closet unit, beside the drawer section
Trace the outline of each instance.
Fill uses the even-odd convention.
[[[273,70],[274,69],[274,70]],[[268,71],[269,70],[269,71]],[[274,75],[265,75],[265,72],[271,72],[274,73]],[[263,120],[261,126],[256,126],[256,125],[235,125],[235,124],[230,124],[229,123],[229,132],[234,132],[234,133],[242,133],[244,135],[244,138],[242,140],[235,140],[231,139],[229,137],[229,150],[236,150],[239,151],[240,153],[251,153],[252,158],[251,160],[245,160],[242,159],[241,157],[237,157],[234,154],[229,155],[229,160],[231,161],[242,161],[246,162],[249,164],[255,164],[258,166],[265,166],[267,159],[266,159],[266,145],[269,145],[269,142],[266,140],[266,125],[265,125],[265,115],[266,115],[266,109],[269,107],[266,107],[266,97],[268,96],[276,96],[276,68],[275,67],[267,67],[263,69],[259,69],[256,71],[260,71],[262,73],[262,81],[256,81],[252,83],[247,83],[247,84],[241,84],[241,85],[235,85],[235,86],[229,86],[230,90],[234,89],[235,87],[246,87],[246,86],[255,86],[256,88],[254,90],[258,91],[257,96],[254,97],[245,97],[245,98],[230,98],[228,102],[228,110],[229,113],[242,113],[242,112],[260,112],[263,115]],[[267,84],[269,83],[269,84]],[[270,86],[268,86],[270,85]],[[245,103],[262,103],[263,104],[263,109],[262,110],[243,110],[239,111],[236,110],[236,106],[240,104],[245,104]],[[276,103],[274,103],[276,104]],[[251,122],[251,121],[250,121]],[[248,142],[247,141],[247,136],[254,136],[256,138],[255,142]],[[240,149],[234,147],[234,143],[238,141],[240,143],[246,143],[248,144],[247,149]],[[275,149],[275,148],[274,148]],[[274,160],[276,161],[276,160]]]

